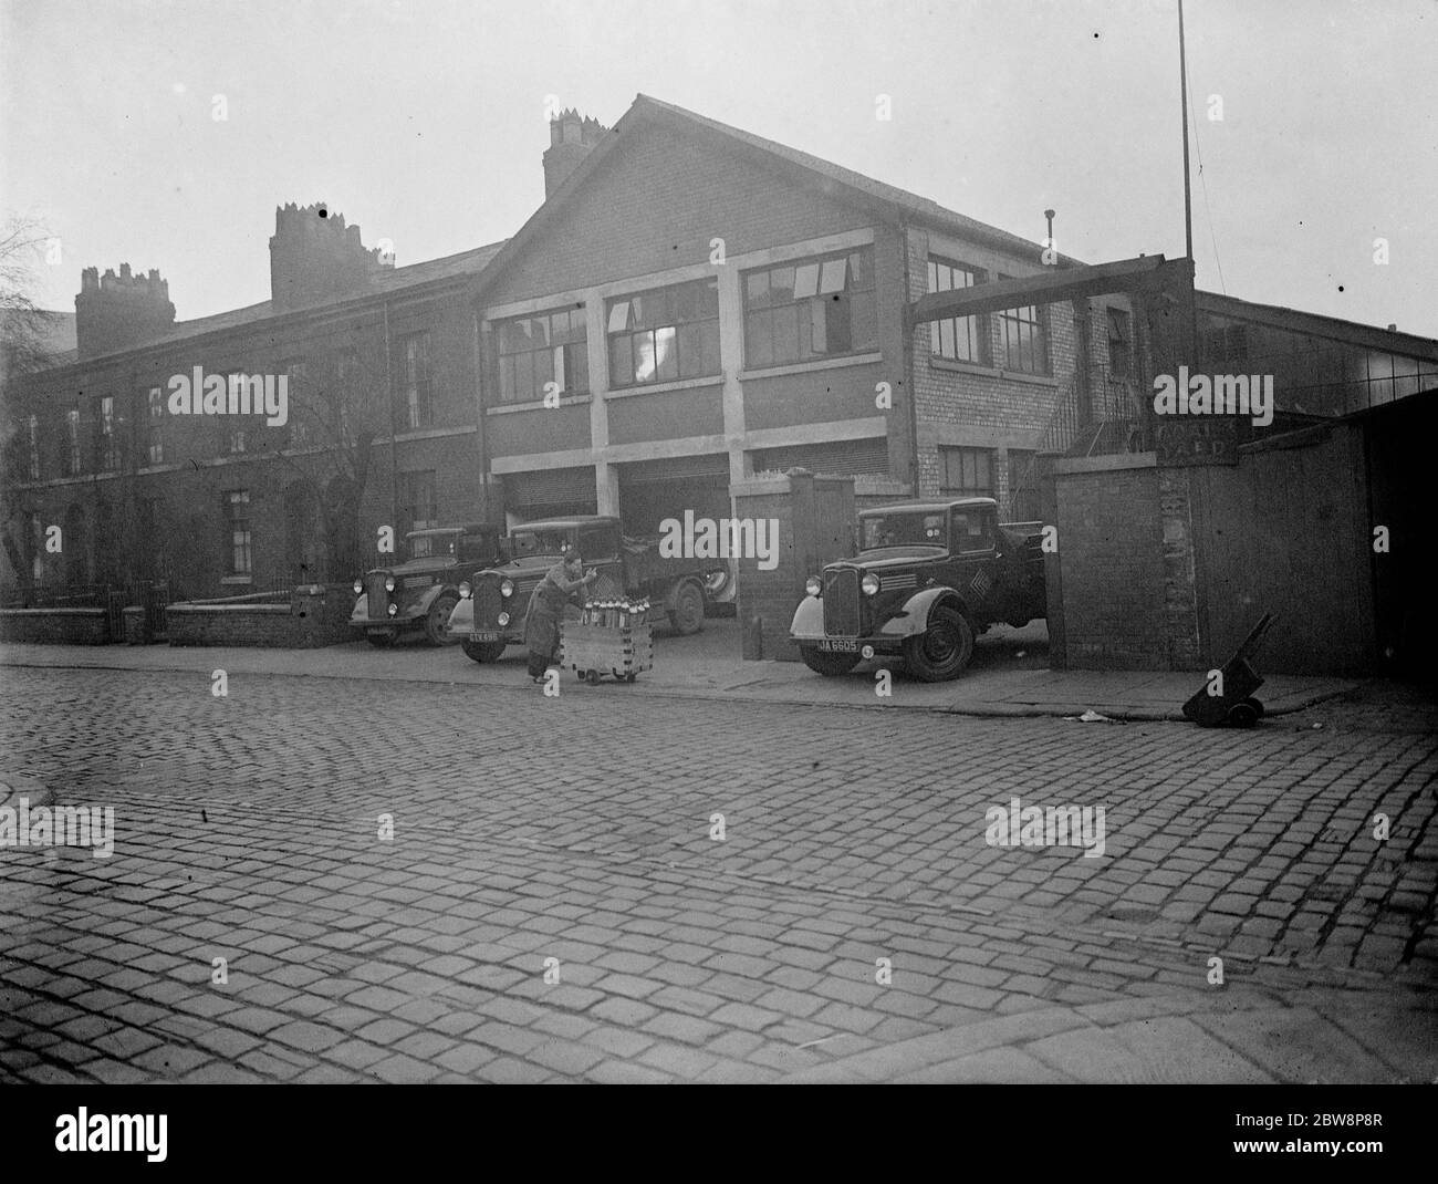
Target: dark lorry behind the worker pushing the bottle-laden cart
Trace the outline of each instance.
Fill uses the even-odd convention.
[[[647,597],[654,614],[666,613],[684,634],[703,629],[705,588],[719,583],[728,567],[725,560],[664,558],[657,538],[628,538],[618,518],[604,515],[526,522],[510,531],[506,547],[508,563],[482,568],[462,584],[449,617],[449,636],[475,662],[495,662],[523,642],[531,593],[574,547],[585,570],[600,575],[588,596]]]

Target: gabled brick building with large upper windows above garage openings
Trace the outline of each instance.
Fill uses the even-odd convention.
[[[651,531],[792,466],[854,475],[863,501],[1032,512],[1022,478],[1080,348],[1109,367],[1104,308],[906,314],[1050,270],[1041,245],[646,96],[613,131],[569,112],[551,137],[544,206],[475,283],[480,443],[510,514]]]

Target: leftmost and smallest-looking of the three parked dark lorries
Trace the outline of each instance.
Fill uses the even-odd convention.
[[[476,565],[503,560],[503,528],[489,524],[434,527],[404,537],[408,558],[375,567],[354,583],[349,627],[371,646],[390,646],[407,630],[423,629],[430,645],[450,645],[449,614],[459,603],[459,583]]]

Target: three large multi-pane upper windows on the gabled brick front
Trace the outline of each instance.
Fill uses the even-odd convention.
[[[604,327],[614,390],[720,373],[718,279],[615,296],[605,305]],[[871,247],[743,273],[746,365],[787,365],[877,345]],[[496,352],[505,403],[536,401],[546,390],[590,390],[582,306],[500,322]]]

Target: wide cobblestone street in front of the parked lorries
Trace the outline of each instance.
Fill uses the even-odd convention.
[[[1089,1080],[1145,1017],[1160,1079],[1438,1072],[1422,731],[227,689],[0,676],[3,773],[116,826],[0,847],[0,1078]],[[1103,856],[986,844],[1014,797]]]

